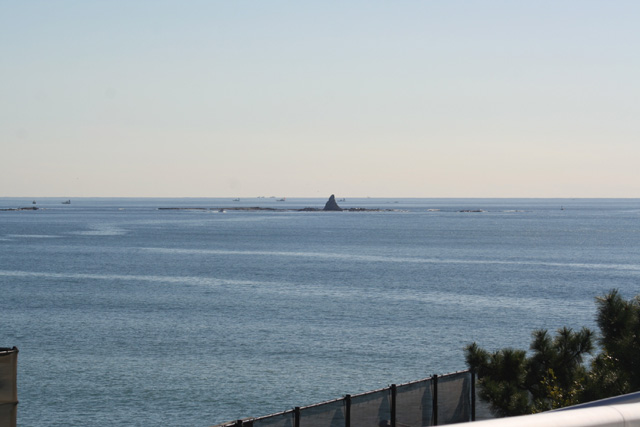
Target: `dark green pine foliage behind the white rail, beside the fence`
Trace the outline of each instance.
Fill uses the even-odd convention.
[[[587,328],[532,334],[529,353],[505,348],[490,353],[476,343],[465,348],[478,375],[479,396],[498,416],[556,409],[640,390],[640,297],[624,300],[617,290],[596,299],[597,342]]]

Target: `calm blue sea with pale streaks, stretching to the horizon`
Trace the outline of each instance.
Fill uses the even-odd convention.
[[[61,202],[0,212],[20,426],[266,415],[465,369],[472,341],[595,327],[596,296],[640,294],[634,199]]]

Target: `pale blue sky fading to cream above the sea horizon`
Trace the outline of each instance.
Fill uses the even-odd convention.
[[[640,2],[0,0],[0,197],[640,198]]]

